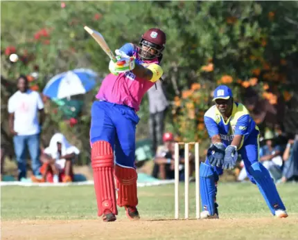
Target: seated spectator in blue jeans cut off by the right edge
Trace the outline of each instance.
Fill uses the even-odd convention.
[[[283,176],[279,183],[298,181],[298,134],[295,139],[288,140],[286,150],[283,152]]]

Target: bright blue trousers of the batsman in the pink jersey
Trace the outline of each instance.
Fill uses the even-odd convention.
[[[135,167],[138,122],[139,117],[134,109],[111,102],[96,101],[91,107],[90,142],[109,142],[117,164]]]

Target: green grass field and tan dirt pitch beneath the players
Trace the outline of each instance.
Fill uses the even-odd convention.
[[[221,183],[220,219],[173,220],[174,185],[139,188],[141,221],[128,221],[124,210],[114,223],[96,216],[93,186],[1,187],[1,239],[298,239],[298,185],[278,186],[287,219],[270,215],[250,183]],[[195,188],[190,216],[195,216]],[[184,190],[180,186],[180,216]]]

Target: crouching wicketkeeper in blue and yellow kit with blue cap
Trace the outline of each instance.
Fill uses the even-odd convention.
[[[288,216],[277,187],[265,167],[258,161],[259,130],[243,104],[234,102],[228,86],[220,85],[213,93],[215,105],[204,114],[211,138],[205,163],[200,165],[202,219],[218,219],[217,182],[222,169],[232,169],[241,155],[249,180],[258,186],[272,215]]]

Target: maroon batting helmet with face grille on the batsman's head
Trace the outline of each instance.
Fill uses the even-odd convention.
[[[140,48],[139,57],[141,59],[150,60],[155,57],[161,57],[161,53],[166,45],[166,33],[159,28],[150,28],[142,35],[139,44],[147,47],[146,49]],[[152,49],[155,50],[155,53],[152,53]]]

